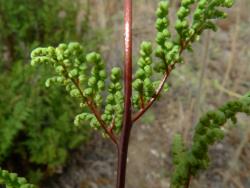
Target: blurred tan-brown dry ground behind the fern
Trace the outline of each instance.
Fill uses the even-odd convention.
[[[142,39],[153,41],[156,2],[138,0],[134,5],[137,54]],[[107,62],[121,65],[122,4],[95,0],[92,6],[97,7],[95,16],[99,15],[91,17],[96,25],[111,28],[112,34],[102,46]],[[170,91],[136,123],[129,148],[127,188],[168,188],[173,135],[181,133],[188,144],[197,117],[250,90],[249,10],[249,0],[237,1],[229,18],[218,23],[217,33],[203,34],[194,53],[185,54],[186,63],[171,75]],[[250,187],[250,118],[238,117],[237,125],[226,125],[223,142],[211,147],[210,168],[192,179],[192,188]],[[116,159],[111,143],[95,135],[72,156],[63,174],[53,177],[44,188],[114,187]]]

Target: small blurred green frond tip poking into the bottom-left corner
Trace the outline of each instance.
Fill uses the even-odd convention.
[[[35,188],[35,186],[29,184],[25,178],[18,177],[16,173],[11,173],[2,168],[0,168],[0,182],[13,188]]]

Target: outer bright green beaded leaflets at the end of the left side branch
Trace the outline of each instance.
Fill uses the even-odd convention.
[[[31,53],[32,65],[50,63],[56,76],[48,78],[45,85],[63,85],[70,96],[93,100],[96,106],[103,101],[101,92],[105,89],[107,73],[101,55],[96,52],[84,53],[77,42],[60,44],[58,47],[37,48]],[[87,72],[90,70],[90,73]],[[120,73],[114,69],[112,78],[119,80]]]

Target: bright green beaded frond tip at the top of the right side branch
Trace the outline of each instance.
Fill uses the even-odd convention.
[[[190,21],[188,16],[192,10],[192,4],[196,4],[196,8],[193,13],[193,20]],[[217,27],[214,21],[227,17],[227,14],[220,8],[230,8],[233,4],[233,0],[182,0],[175,22],[175,29],[179,35],[178,40],[194,42],[204,30],[216,31]],[[159,24],[157,26],[157,29],[159,29]]]

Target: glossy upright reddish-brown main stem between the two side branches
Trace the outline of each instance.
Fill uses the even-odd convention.
[[[132,0],[124,0],[124,118],[118,147],[116,188],[125,187],[129,137],[132,128]]]

